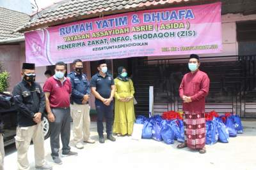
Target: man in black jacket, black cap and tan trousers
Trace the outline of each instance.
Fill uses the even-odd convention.
[[[45,162],[42,124],[45,96],[40,85],[35,82],[35,64],[24,63],[21,75],[23,80],[13,89],[13,99],[18,110],[15,136],[18,169],[29,169],[27,153],[31,139],[35,148],[36,169],[52,169]]]

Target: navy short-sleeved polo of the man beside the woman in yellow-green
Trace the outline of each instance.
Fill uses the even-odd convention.
[[[102,77],[99,73],[97,73],[92,76],[90,85],[91,87],[96,87],[96,91],[100,94],[100,96],[108,99],[111,96],[111,85],[115,85],[115,82],[111,74],[106,73],[106,76]],[[99,101],[99,99],[96,100]]]

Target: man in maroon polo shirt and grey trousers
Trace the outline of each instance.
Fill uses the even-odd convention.
[[[64,75],[66,65],[57,62],[55,74],[44,84],[47,117],[51,122],[51,150],[52,159],[55,164],[62,164],[59,157],[60,134],[62,142],[62,155],[77,155],[70,151],[70,94],[71,82]]]

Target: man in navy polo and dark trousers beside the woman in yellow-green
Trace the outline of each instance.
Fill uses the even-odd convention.
[[[111,74],[108,73],[106,60],[99,60],[99,73],[92,76],[91,90],[95,96],[95,106],[97,110],[97,131],[99,134],[99,142],[104,143],[103,136],[103,118],[106,118],[107,138],[110,141],[116,141],[112,136],[113,123],[113,97],[115,94],[115,82]]]

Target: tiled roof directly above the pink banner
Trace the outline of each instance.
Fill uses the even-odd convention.
[[[93,15],[100,15],[100,13],[109,15],[110,13],[139,10],[140,8],[144,10],[149,6],[180,3],[182,1],[196,0],[64,0],[40,11],[40,18],[35,18],[20,27],[19,31],[62,24],[65,20],[71,22],[81,19],[78,19],[78,17],[89,18]]]

